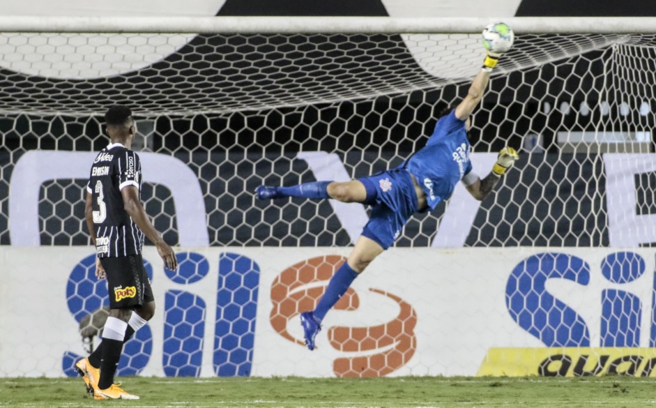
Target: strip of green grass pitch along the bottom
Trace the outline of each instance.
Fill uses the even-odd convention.
[[[656,381],[634,377],[122,380],[140,400],[93,400],[79,378],[3,378],[0,407],[656,407]]]

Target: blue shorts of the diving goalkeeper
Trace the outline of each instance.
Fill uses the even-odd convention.
[[[391,169],[358,179],[367,189],[367,204],[372,205],[363,236],[388,249],[401,235],[403,226],[418,211],[417,193],[406,169]]]

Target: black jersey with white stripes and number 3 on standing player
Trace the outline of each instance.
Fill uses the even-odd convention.
[[[96,226],[98,257],[124,257],[142,253],[144,233],[123,209],[121,189],[142,190],[139,156],[123,144],[109,144],[91,166],[86,190],[93,197],[93,224]]]

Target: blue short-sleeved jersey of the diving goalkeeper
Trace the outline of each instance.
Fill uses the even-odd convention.
[[[454,109],[437,121],[426,146],[402,165],[426,193],[430,209],[451,197],[458,181],[471,172],[469,147],[465,121]]]

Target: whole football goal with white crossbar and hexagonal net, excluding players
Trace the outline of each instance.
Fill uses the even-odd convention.
[[[254,189],[400,165],[466,95],[492,20],[0,16],[0,376],[73,375],[89,347],[78,324],[107,293],[84,187],[115,103],[135,114],[142,200],[181,262],[164,271],[146,245],[162,313],[121,374],[650,376],[652,17],[494,19],[517,41],[473,116],[471,160],[485,176],[504,146],[520,159],[483,202],[459,186],[413,216],[331,312],[316,360],[301,353],[298,312],[368,209]]]

